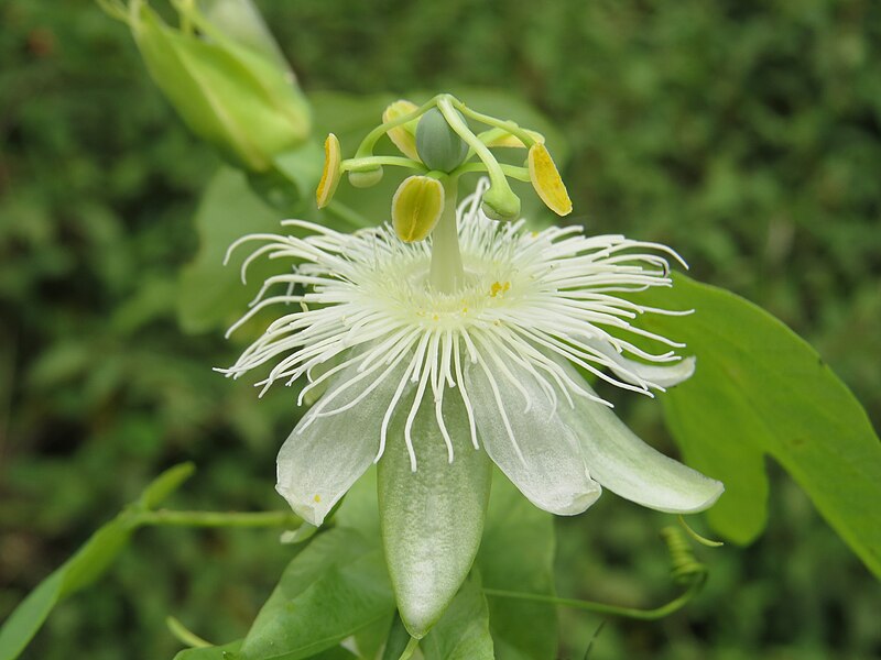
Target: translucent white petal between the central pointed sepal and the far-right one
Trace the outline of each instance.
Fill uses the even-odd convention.
[[[535,506],[561,516],[580,514],[601,488],[587,472],[576,435],[559,417],[568,403],[554,405],[522,366],[505,364],[510,375],[498,366],[471,363],[465,374],[483,448]]]

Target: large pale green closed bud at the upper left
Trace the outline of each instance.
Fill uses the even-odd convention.
[[[175,1],[186,26],[177,30],[142,0],[130,0],[128,8],[101,0],[129,24],[150,76],[189,129],[233,165],[267,172],[273,156],[305,141],[311,117],[293,74],[280,64],[280,55],[270,54],[278,50],[274,42],[254,47],[261,38],[271,40],[269,33],[253,22],[244,32],[241,25],[236,33],[226,31],[230,12],[255,12],[250,3],[235,7],[243,3],[248,0],[214,0],[209,20],[192,3]],[[229,6],[226,11],[224,6]]]

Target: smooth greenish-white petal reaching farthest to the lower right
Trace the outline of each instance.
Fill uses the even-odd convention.
[[[564,369],[578,377],[570,365]],[[592,394],[587,383],[583,387]],[[690,514],[713,506],[725,491],[721,482],[645,444],[609,407],[578,397],[574,408],[562,408],[578,433],[590,475],[612,493],[660,512]]]

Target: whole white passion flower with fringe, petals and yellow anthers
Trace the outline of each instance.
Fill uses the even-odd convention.
[[[383,135],[402,155],[373,153]],[[500,163],[497,148],[525,150],[524,164]],[[328,135],[318,208],[344,173],[365,187],[385,166],[411,172],[389,224],[342,234],[289,220],[296,237],[232,245],[262,243],[242,277],[260,256],[290,260],[293,272],[270,277],[239,323],[274,305],[286,314],[226,372],[269,369],[264,389],[300,383],[301,404],[317,398],[278,461],[276,488],[308,522],[320,525],[377,463],[385,562],[420,638],[470,571],[492,463],[561,515],[584,512],[602,486],[673,513],[710,506],[722,486],[644,444],[583,377],[651,394],[692,375],[681,344],[631,326],[679,312],[621,296],[671,286],[672,250],[577,227],[527,231],[509,178],[530,182],[558,216],[573,208],[544,138],[448,94],[389,106],[351,158]],[[460,177],[478,172],[488,178],[457,204]]]

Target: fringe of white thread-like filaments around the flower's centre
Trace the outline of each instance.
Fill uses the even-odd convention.
[[[429,242],[405,244],[388,226],[346,234],[302,220],[286,220],[284,226],[305,230],[309,235],[252,234],[233,243],[227,258],[246,242],[262,243],[244,260],[242,279],[248,266],[260,256],[290,258],[296,265],[290,274],[267,279],[249,311],[229,332],[272,305],[295,302],[296,311],[273,321],[236,364],[218,371],[238,378],[255,367],[273,364],[269,375],[258,383],[263,391],[278,381],[291,385],[305,376],[307,385],[298,399],[302,403],[306,392],[346,367],[358,365],[354,378],[318,400],[304,428],[318,417],[351,409],[395,374],[400,382],[385,408],[377,460],[384,451],[392,416],[412,384],[415,397],[406,414],[404,440],[413,470],[417,465],[413,424],[429,392],[449,461],[454,459],[453,441],[442,411],[447,389],[459,392],[471,443],[478,448],[464,360],[485,372],[521,459],[503,399],[509,406],[522,400],[525,409],[532,403],[509,364],[516,364],[535,377],[554,409],[558,393],[569,406],[573,396],[596,398],[566,375],[557,363],[561,358],[619,387],[649,395],[650,388],[662,389],[616,361],[616,355],[630,353],[654,363],[679,360],[673,351],[646,352],[622,336],[631,333],[681,348],[682,344],[633,327],[631,320],[646,312],[683,312],[644,307],[616,294],[671,286],[667,256],[679,263],[682,258],[657,243],[621,235],[588,238],[578,227],[530,232],[523,220],[499,224],[479,210],[486,187],[487,183],[481,182],[457,209],[466,282],[455,294],[438,293],[429,286]],[[284,286],[284,293],[268,296],[275,286]],[[614,329],[614,336],[608,329]],[[315,377],[314,370],[320,365],[333,367]],[[603,371],[612,367],[612,373],[622,378]],[[354,387],[361,388],[357,396],[345,405],[333,405],[340,393]],[[502,396],[503,388],[516,391],[522,399]]]

